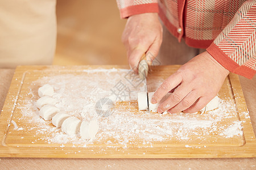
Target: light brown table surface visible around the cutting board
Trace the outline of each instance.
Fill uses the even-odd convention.
[[[0,69],[0,111],[5,102],[14,69]],[[240,76],[243,94],[256,131],[256,76]],[[40,153],[39,153],[40,154]],[[0,158],[1,169],[256,169],[256,158],[220,159],[57,159]]]

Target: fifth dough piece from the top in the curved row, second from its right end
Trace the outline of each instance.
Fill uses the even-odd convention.
[[[81,121],[76,117],[69,117],[64,120],[61,125],[61,131],[67,133],[69,136],[74,137],[80,129]]]

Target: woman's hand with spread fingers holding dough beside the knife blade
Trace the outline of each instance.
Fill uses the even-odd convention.
[[[169,76],[152,96],[151,103],[159,101],[169,91],[175,91],[158,107],[158,112],[200,111],[220,91],[229,74],[208,52],[199,54]]]

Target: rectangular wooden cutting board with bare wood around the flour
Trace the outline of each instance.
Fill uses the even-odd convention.
[[[191,137],[192,140],[177,140],[168,138],[164,141],[155,141],[145,144],[143,141],[131,141],[129,145],[121,143],[109,144],[111,138],[105,141],[97,141],[86,147],[69,142],[51,143],[40,140],[41,134],[35,130],[17,130],[19,127],[37,127],[36,124],[26,122],[22,119],[20,106],[26,105],[27,94],[30,93],[30,85],[35,80],[49,75],[73,74],[79,75],[83,70],[90,69],[128,69],[127,66],[19,66],[17,67],[5,105],[0,115],[0,156],[1,157],[31,157],[31,158],[245,158],[256,155],[256,140],[251,126],[250,117],[247,114],[247,107],[243,97],[240,80],[236,74],[229,74],[218,94],[220,99],[229,99],[236,105],[236,109],[229,118],[220,121],[225,125],[233,121],[241,121],[242,135],[234,135],[225,138],[223,135],[208,133],[204,140]],[[154,66],[151,67],[147,80],[157,78],[166,79],[180,66]],[[151,81],[152,82],[152,81]],[[151,84],[152,85],[152,84]],[[148,84],[148,91],[154,91],[156,86]],[[36,89],[34,89],[36,90]],[[136,101],[122,102],[115,105],[117,109],[129,110],[131,113],[141,116]],[[121,111],[120,110],[120,111]],[[158,114],[153,114],[156,117]],[[167,115],[168,116],[168,115]],[[187,114],[193,118],[194,115]],[[200,115],[197,115],[200,117]],[[52,126],[47,123],[47,126]],[[160,125],[159,125],[160,126]],[[53,126],[52,126],[53,127]],[[38,127],[40,128],[40,127]],[[217,127],[218,128],[218,127]],[[200,135],[200,131],[197,134]],[[49,133],[51,135],[51,133]],[[203,133],[202,133],[203,135]],[[136,138],[135,138],[136,139]],[[36,142],[31,142],[36,141]]]

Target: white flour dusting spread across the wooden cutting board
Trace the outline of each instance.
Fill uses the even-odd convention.
[[[151,80],[148,86],[158,87],[162,82],[162,78]],[[60,128],[55,128],[51,121],[44,121],[38,115],[38,87],[44,84],[54,88],[52,97],[57,100],[56,107],[60,111],[82,121],[98,121],[100,130],[95,139],[85,141],[80,137],[71,138]],[[18,108],[22,111],[22,119],[33,125],[19,127],[27,132],[34,130],[38,136],[31,143],[46,141],[61,146],[73,144],[84,147],[102,143],[110,147],[142,144],[152,147],[171,140],[190,147],[205,142],[216,143],[223,137],[228,140],[242,136],[242,122],[232,120],[236,117],[236,107],[231,99],[220,100],[218,109],[204,114],[148,114],[138,111],[137,92],[144,90],[144,84],[139,81],[138,75],[131,74],[131,70],[94,69],[50,74],[30,84],[30,89],[30,94],[23,97],[27,104],[18,105]],[[104,98],[110,99],[115,105],[109,115],[99,113],[100,109],[102,113],[108,112],[108,107],[102,105],[97,108],[97,103]],[[16,123],[13,124],[17,129]]]

